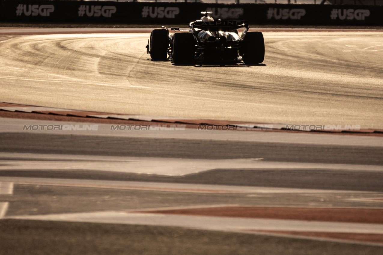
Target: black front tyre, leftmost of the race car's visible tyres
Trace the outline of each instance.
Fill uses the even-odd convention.
[[[167,30],[164,28],[153,29],[149,40],[150,57],[153,60],[166,60],[169,46]]]

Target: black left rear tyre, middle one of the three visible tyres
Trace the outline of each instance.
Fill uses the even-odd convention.
[[[175,64],[194,62],[194,36],[191,32],[177,32],[172,40],[172,57]]]

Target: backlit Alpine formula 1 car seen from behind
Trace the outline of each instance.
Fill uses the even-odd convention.
[[[211,12],[201,12],[211,13]],[[175,64],[194,62],[243,61],[262,63],[265,42],[262,32],[248,31],[247,21],[214,21],[211,17],[191,22],[190,29],[153,29],[146,52],[153,60],[172,60]],[[237,29],[244,28],[241,36]],[[169,57],[168,57],[169,55]]]

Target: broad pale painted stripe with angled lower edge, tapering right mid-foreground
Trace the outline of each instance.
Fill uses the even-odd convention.
[[[136,174],[156,174],[182,176],[205,172],[211,169],[258,168],[257,159],[174,159],[174,158],[131,158],[124,161],[34,161],[2,160],[0,170],[95,170],[108,172],[125,172]],[[262,164],[263,166],[263,164]],[[262,167],[261,167],[262,168]],[[383,170],[383,169],[381,169]]]

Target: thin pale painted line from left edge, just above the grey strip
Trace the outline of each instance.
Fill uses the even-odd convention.
[[[2,177],[3,181],[27,185],[56,185],[88,188],[118,188],[134,190],[161,190],[167,192],[198,192],[198,193],[355,193],[347,190],[319,190],[306,188],[274,188],[210,184],[179,184],[166,182],[127,182],[111,180],[79,180],[30,177]],[[358,192],[367,193],[367,192]]]

